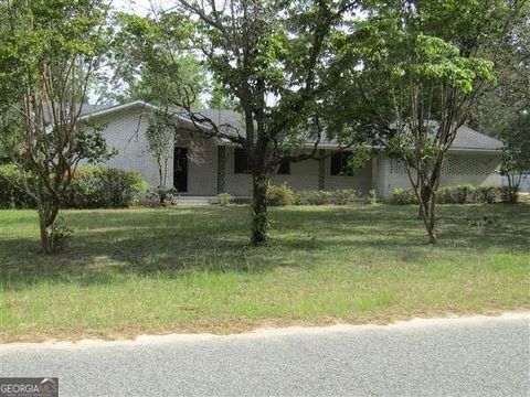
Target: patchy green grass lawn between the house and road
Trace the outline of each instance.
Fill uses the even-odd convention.
[[[413,206],[66,211],[64,254],[38,254],[36,216],[0,211],[3,342],[261,325],[388,322],[530,307],[530,205],[441,206],[439,245]],[[483,216],[492,225],[469,222]]]

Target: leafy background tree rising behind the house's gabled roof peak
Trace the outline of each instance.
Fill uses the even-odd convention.
[[[186,15],[139,17],[118,13],[113,40],[115,73],[109,96],[119,101],[141,99],[166,105],[183,86],[205,90],[205,71],[193,52],[193,23]],[[193,105],[199,105],[200,98]]]

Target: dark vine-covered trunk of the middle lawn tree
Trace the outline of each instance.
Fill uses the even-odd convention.
[[[267,244],[268,214],[267,214],[267,186],[268,180],[264,174],[253,174],[252,201],[252,237],[253,246]]]

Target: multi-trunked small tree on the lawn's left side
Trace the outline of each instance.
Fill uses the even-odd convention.
[[[10,157],[36,202],[45,254],[62,237],[55,222],[78,162],[107,155],[99,129],[80,122],[106,47],[106,13],[99,0],[12,0],[0,7],[0,126],[13,135]]]

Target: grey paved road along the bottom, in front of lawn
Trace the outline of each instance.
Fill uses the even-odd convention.
[[[61,396],[529,396],[529,316],[237,336],[18,344],[2,376],[59,376]]]

